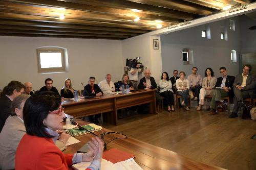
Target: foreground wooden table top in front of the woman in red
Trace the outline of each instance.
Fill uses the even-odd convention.
[[[82,124],[81,124],[82,125]],[[108,129],[103,128],[100,131],[96,131],[97,135],[104,132],[111,132]],[[106,135],[106,142],[113,139],[115,134]],[[92,134],[85,134],[77,136],[76,138],[81,142],[70,145],[64,151],[65,153],[77,152],[86,142],[92,137]],[[148,144],[134,138],[116,139],[107,145],[107,150],[117,148],[135,155],[135,161],[143,169],[163,169],[163,170],[180,170],[180,169],[223,169],[221,167],[207,165],[198,161],[191,160],[175,152],[168,151],[152,144]],[[131,169],[132,170],[132,169]]]

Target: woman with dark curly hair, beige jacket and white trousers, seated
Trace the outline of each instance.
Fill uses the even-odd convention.
[[[203,79],[202,88],[199,93],[199,105],[197,110],[201,110],[204,105],[204,96],[212,94],[212,89],[215,87],[217,79],[214,77],[214,71],[211,68],[205,69],[205,78]]]

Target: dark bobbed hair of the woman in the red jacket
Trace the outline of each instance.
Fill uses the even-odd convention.
[[[49,112],[58,109],[60,104],[60,96],[52,91],[42,91],[27,99],[23,108],[27,134],[52,138],[53,136],[46,132],[46,126],[42,122]]]

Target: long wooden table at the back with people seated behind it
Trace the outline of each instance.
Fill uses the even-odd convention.
[[[74,116],[89,116],[108,113],[108,122],[117,125],[117,110],[141,104],[151,104],[151,113],[156,114],[156,90],[138,90],[129,94],[104,94],[93,99],[82,99],[79,102],[66,100],[62,102],[65,113]]]

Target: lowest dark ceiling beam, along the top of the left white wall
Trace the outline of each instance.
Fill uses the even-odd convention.
[[[18,33],[18,34],[40,34],[40,35],[60,35],[60,36],[83,36],[83,37],[114,37],[114,38],[128,38],[126,35],[105,35],[105,34],[81,34],[81,33],[66,33],[54,31],[32,31],[32,30],[14,30],[14,29],[0,29],[0,33]]]

